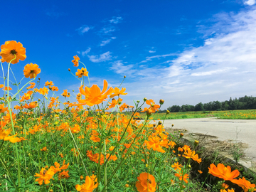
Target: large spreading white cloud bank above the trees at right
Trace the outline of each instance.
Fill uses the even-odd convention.
[[[211,26],[209,23],[205,28],[199,26],[206,39],[202,46],[190,47],[180,54],[147,57],[141,62],[151,60],[154,68],[121,61],[112,66],[122,75],[125,70],[133,70],[134,82],[123,85],[132,96],[127,96],[128,105],[132,105],[132,100],[147,97],[166,100],[163,106],[166,109],[171,105],[256,95],[252,88],[256,87],[256,9],[218,14],[210,21]],[[172,55],[176,58],[168,59]]]

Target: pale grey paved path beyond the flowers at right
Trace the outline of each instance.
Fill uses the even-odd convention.
[[[174,124],[174,127],[171,128],[171,124]],[[191,141],[207,138],[211,142],[206,142],[206,144],[220,145],[225,149],[238,143],[240,151],[244,152],[239,163],[256,171],[256,120],[217,119],[215,117],[169,119],[164,121],[164,127],[166,129],[186,129],[184,138]],[[233,159],[230,151],[226,151],[225,156]]]

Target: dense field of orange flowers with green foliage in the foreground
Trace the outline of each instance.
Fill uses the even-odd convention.
[[[21,43],[6,41],[0,55],[4,74],[0,85],[4,92],[0,104],[1,191],[205,191],[203,185],[198,188],[191,181],[191,166],[202,161],[194,150],[198,141],[181,146],[182,133],[165,132],[161,122],[149,124],[164,100],[156,104],[144,98],[134,103],[132,115],[124,115],[127,104],[122,95],[127,92],[122,83],[109,87],[104,80],[102,90],[90,85],[90,72],[75,55],[73,67],[83,66],[74,75],[81,86],[72,95],[77,102],[70,102],[68,90],[56,96],[58,87],[53,82],[43,87],[38,87],[39,80],[33,82],[41,73],[37,64],[25,66],[23,87],[12,81],[16,81],[10,77],[13,64],[26,59]],[[3,65],[8,65],[7,71]],[[134,117],[142,108],[146,120],[139,124]],[[168,115],[167,111],[163,119]],[[255,184],[230,166],[211,164],[208,171],[223,179],[221,192],[234,191],[224,181],[245,192],[256,191]]]

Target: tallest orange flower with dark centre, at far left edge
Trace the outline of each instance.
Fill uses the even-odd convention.
[[[12,64],[16,64],[19,60],[26,59],[26,48],[23,48],[20,42],[6,41],[4,45],[1,45],[0,55],[2,57],[1,61],[7,63],[13,60],[16,55],[16,59],[11,61]]]

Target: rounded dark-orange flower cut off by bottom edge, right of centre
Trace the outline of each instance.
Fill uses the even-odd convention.
[[[136,187],[139,192],[154,192],[156,191],[156,181],[154,176],[148,173],[140,174],[136,182]]]

